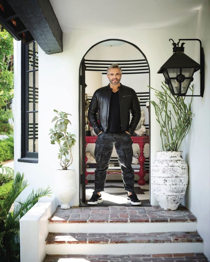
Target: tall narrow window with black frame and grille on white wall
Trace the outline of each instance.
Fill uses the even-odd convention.
[[[21,80],[21,158],[38,163],[38,44],[22,42]]]

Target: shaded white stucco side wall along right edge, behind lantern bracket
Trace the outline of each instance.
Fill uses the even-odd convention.
[[[195,38],[199,38],[205,54],[205,91],[203,98],[193,100],[193,124],[182,144],[183,157],[189,166],[189,184],[182,204],[197,217],[197,230],[204,239],[204,253],[210,260],[210,1],[206,1],[197,16]],[[195,49],[199,54],[199,48]],[[200,79],[195,79],[199,85]]]

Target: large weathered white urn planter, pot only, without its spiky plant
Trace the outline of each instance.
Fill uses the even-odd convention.
[[[188,184],[188,166],[182,151],[157,151],[152,165],[151,184],[163,210],[176,210]]]

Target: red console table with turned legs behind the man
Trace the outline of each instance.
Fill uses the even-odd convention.
[[[85,137],[85,141],[86,141],[85,148],[86,148],[87,144],[95,143],[96,139],[97,139],[97,136],[89,136],[89,137],[86,136]],[[140,186],[143,186],[146,183],[146,180],[144,179],[144,176],[146,174],[145,167],[144,167],[144,162],[145,162],[144,145],[147,144],[147,143],[148,144],[150,143],[150,137],[131,137],[131,139],[132,139],[133,143],[138,144],[139,147],[140,147],[140,155],[139,155],[139,158],[138,158],[138,161],[140,163],[140,170],[136,174],[138,174],[138,176],[139,176],[138,184]],[[88,160],[88,158],[85,156],[85,162],[87,162],[87,160]],[[90,172],[90,173],[92,174],[92,172]],[[107,172],[107,173],[109,174],[109,172]],[[113,174],[113,172],[112,172],[112,174]],[[88,175],[88,172],[85,170],[85,177],[87,175]],[[85,179],[85,184],[86,185],[88,184],[87,179]]]

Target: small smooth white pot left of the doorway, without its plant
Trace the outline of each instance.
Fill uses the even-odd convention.
[[[69,209],[69,202],[76,193],[75,170],[57,169],[55,175],[55,195],[62,209]]]

